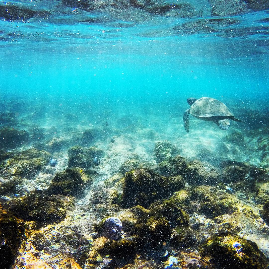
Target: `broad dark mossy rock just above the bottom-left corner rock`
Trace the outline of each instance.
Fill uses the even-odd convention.
[[[66,214],[61,197],[40,190],[10,200],[7,206],[16,217],[41,224],[61,221]]]

